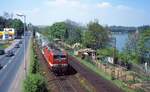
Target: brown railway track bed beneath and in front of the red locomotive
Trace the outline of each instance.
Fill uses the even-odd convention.
[[[84,87],[81,86],[79,80],[76,78],[76,71],[70,67],[70,71],[68,74],[63,76],[56,76],[52,73],[49,68],[48,64],[43,57],[40,49],[38,46],[35,46],[36,54],[38,60],[40,61],[40,72],[45,76],[47,80],[47,88],[51,92],[87,92]]]

